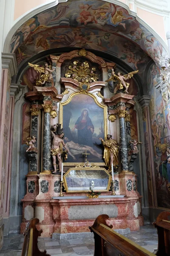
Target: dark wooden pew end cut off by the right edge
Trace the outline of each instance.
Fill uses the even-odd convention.
[[[170,256],[170,212],[161,212],[153,225],[158,230],[158,256]]]

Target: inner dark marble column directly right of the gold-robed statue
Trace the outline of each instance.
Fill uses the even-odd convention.
[[[127,111],[120,109],[119,115],[119,127],[120,127],[120,158],[122,165],[122,172],[128,172],[128,151],[127,151],[127,134],[125,125],[125,114]]]

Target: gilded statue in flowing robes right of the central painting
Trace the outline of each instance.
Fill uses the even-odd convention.
[[[99,138],[101,140],[102,145],[105,147],[103,158],[105,159],[105,165],[111,166],[113,163],[113,166],[119,165],[119,144],[116,142],[116,140],[112,139],[112,135],[107,135],[107,140],[103,140],[101,137]]]

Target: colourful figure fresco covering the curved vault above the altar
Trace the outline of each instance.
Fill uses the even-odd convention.
[[[107,52],[139,71],[149,61],[148,55],[158,64],[164,52],[126,9],[100,0],[60,3],[30,18],[11,40],[18,66],[39,52],[59,47]]]

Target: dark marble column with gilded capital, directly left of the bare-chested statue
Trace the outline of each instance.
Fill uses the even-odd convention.
[[[44,128],[43,128],[43,145],[42,145],[42,173],[51,174],[50,172],[50,158],[51,158],[51,126],[50,126],[50,112],[51,104],[42,104],[44,108]]]

